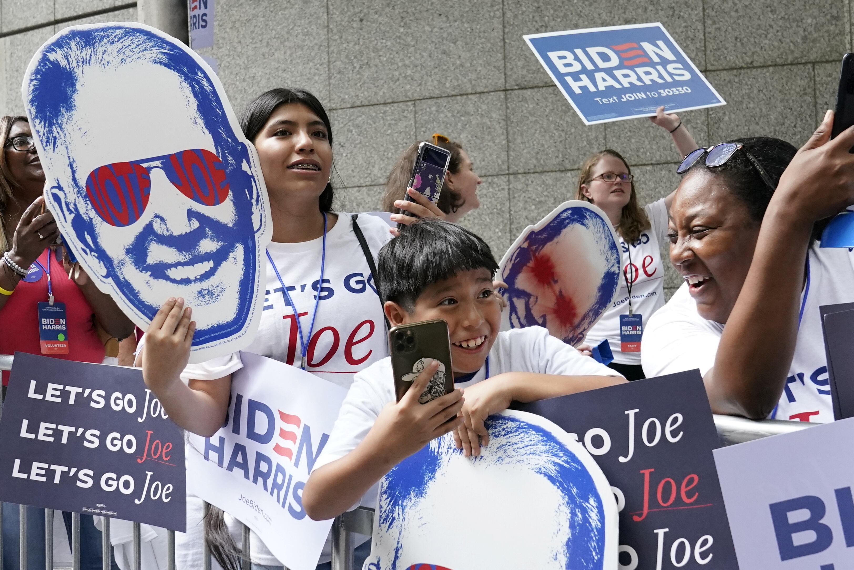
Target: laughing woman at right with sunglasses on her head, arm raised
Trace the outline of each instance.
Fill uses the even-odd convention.
[[[698,149],[670,208],[670,261],[685,283],[643,338],[648,375],[699,368],[716,414],[834,419],[819,307],[854,301],[854,254],[822,249],[854,203],[854,127],[833,113],[800,150],[777,138]]]

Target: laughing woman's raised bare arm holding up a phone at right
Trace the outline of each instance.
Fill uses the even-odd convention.
[[[798,339],[812,226],[854,203],[854,127],[830,141],[832,125],[828,111],[783,173],[765,212],[715,366],[704,378],[716,413],[764,418],[780,400]]]

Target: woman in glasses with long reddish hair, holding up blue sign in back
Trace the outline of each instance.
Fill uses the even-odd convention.
[[[670,132],[680,156],[697,148],[679,117],[664,113],[664,107],[659,107],[650,120]],[[621,342],[621,330],[628,324],[645,326],[652,313],[664,305],[664,267],[659,244],[664,244],[666,238],[667,212],[673,200],[671,193],[641,208],[634,179],[623,156],[616,150],[601,150],[584,161],[576,190],[576,200],[593,203],[611,220],[620,240],[623,263],[617,298],[588,331],[578,350],[589,355],[592,347],[607,340],[614,355],[608,366],[629,380],[644,378],[640,342],[629,338],[626,340],[631,342]]]

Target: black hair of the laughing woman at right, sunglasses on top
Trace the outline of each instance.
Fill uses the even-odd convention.
[[[752,220],[762,221],[774,192],[763,182],[762,176],[747,158],[744,150],[763,167],[776,188],[783,171],[789,162],[792,162],[798,149],[785,140],[771,137],[736,138],[728,142],[743,144],[744,149],[736,150],[735,154],[719,167],[707,167],[704,156],[688,172],[702,169],[722,177],[729,191],[745,204]]]

